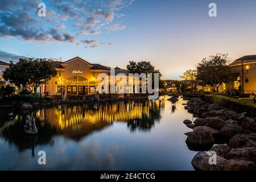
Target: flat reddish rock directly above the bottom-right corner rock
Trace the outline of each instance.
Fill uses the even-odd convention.
[[[226,159],[243,158],[256,162],[256,147],[233,148],[226,154]]]

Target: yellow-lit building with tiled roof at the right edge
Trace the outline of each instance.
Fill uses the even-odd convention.
[[[242,86],[242,62],[243,62],[243,89],[245,94],[256,93],[256,55],[240,57],[230,64],[233,73],[236,73],[234,81],[226,84],[226,89],[240,89]]]

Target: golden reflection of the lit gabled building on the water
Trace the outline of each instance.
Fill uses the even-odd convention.
[[[150,130],[155,120],[160,117],[158,101],[98,103],[94,109],[88,109],[86,106],[59,105],[56,108],[42,108],[36,115],[40,121],[55,126],[59,133],[74,139],[80,139],[95,130],[109,126],[114,121],[129,121],[129,125],[133,123],[134,126],[137,123],[138,128]],[[138,123],[141,125],[138,126]]]

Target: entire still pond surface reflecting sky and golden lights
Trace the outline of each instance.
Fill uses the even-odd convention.
[[[0,111],[0,170],[193,170],[182,98]],[[6,115],[14,112],[13,119]],[[36,115],[38,135],[24,134]],[[46,152],[46,165],[38,152]]]

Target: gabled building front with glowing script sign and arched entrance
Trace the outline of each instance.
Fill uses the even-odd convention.
[[[55,61],[54,68],[57,70],[57,76],[53,77],[46,85],[40,86],[39,93],[48,93],[49,95],[65,93],[66,96],[95,94],[97,92],[100,73],[110,75],[110,67],[101,64],[92,64],[82,59],[74,57],[65,62]],[[115,68],[115,75],[123,73],[128,75],[126,69]]]

